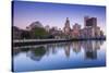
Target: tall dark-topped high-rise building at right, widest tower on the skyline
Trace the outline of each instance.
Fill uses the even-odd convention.
[[[92,37],[98,37],[99,36],[99,27],[97,26],[97,17],[84,17],[84,37],[85,38],[92,38]]]

